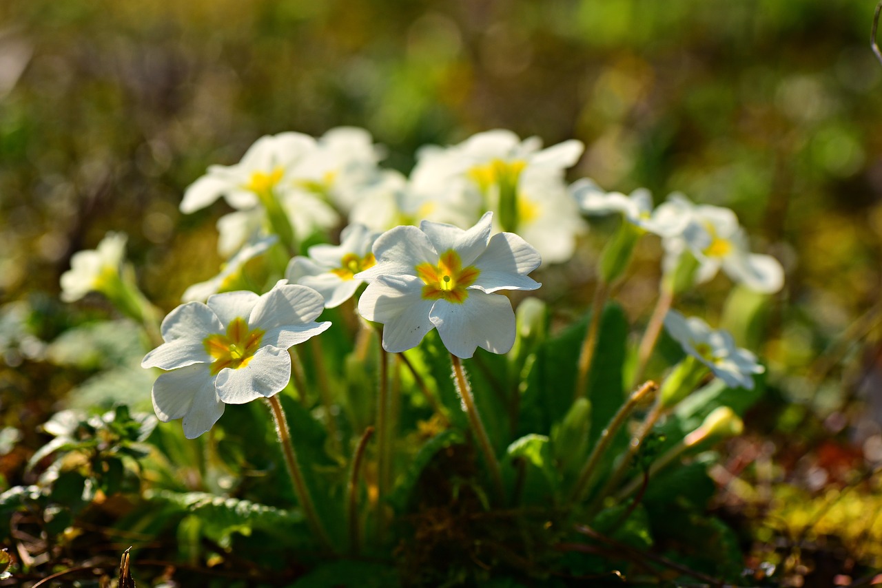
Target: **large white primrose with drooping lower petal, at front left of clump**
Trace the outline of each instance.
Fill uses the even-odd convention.
[[[272,290],[187,302],[162,321],[165,341],[141,361],[167,370],[153,383],[153,410],[163,422],[183,419],[192,439],[221,418],[224,404],[244,404],[281,391],[291,376],[288,348],[325,331],[316,323],[321,294],[280,280]]]

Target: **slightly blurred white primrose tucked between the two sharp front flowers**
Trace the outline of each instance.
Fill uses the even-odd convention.
[[[347,301],[364,282],[355,274],[373,267],[370,248],[379,233],[363,225],[349,225],[340,233],[340,245],[314,245],[309,257],[297,256],[288,264],[285,278],[325,297],[325,308],[333,309]]]

